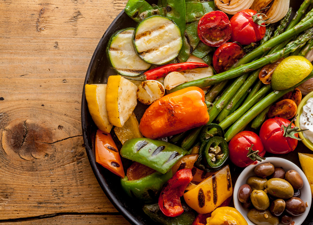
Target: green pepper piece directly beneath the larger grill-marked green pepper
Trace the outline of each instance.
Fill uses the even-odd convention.
[[[165,174],[155,172],[144,178],[131,181],[125,176],[121,178],[121,185],[130,197],[136,197],[148,203],[153,202],[159,197],[159,191],[171,177],[172,170],[169,170]]]

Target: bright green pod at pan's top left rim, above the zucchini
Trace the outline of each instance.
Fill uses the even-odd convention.
[[[153,8],[145,0],[129,0],[124,10],[129,17],[139,22],[139,15],[147,10],[153,10]]]

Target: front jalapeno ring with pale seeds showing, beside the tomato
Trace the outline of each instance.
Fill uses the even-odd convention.
[[[213,169],[221,167],[229,155],[228,144],[222,137],[209,138],[202,151],[208,166]]]

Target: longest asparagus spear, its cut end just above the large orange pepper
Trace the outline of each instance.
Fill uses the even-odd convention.
[[[312,15],[312,18],[310,19],[310,22],[311,22],[311,25],[313,25],[313,15]],[[304,27],[304,26],[305,25],[303,23],[302,27]],[[297,29],[298,29],[297,31],[299,31],[301,28],[298,27]],[[281,35],[283,35],[283,34],[281,34]],[[292,41],[292,42],[288,43],[285,48],[281,49],[280,51],[278,51],[276,53],[273,53],[271,55],[268,55],[268,56],[265,56],[265,57],[260,58],[258,60],[255,60],[254,62],[247,63],[247,64],[244,64],[244,65],[240,65],[237,68],[225,71],[223,73],[219,73],[219,74],[213,75],[211,77],[201,78],[201,79],[198,79],[198,80],[194,80],[194,81],[190,81],[190,82],[187,82],[187,83],[183,83],[181,85],[176,86],[175,88],[172,88],[169,92],[172,93],[174,91],[177,91],[177,90],[180,90],[180,89],[183,89],[183,88],[187,88],[187,87],[192,87],[192,86],[196,86],[196,87],[199,87],[199,88],[208,87],[208,86],[211,86],[213,84],[220,83],[220,82],[222,82],[224,80],[229,80],[229,79],[232,79],[232,78],[239,77],[240,75],[243,75],[243,74],[245,74],[247,72],[256,70],[258,68],[261,68],[261,67],[263,67],[263,66],[265,66],[265,65],[267,65],[269,63],[274,63],[276,60],[278,60],[278,59],[288,55],[289,53],[294,52],[297,48],[302,47],[303,45],[305,45],[305,42],[310,40],[310,38],[312,37],[312,34],[313,34],[313,29],[308,29],[303,34],[301,34],[295,41]],[[277,37],[280,37],[281,35],[279,35]],[[274,40],[274,39],[275,38],[273,38],[271,40]],[[270,42],[270,41],[268,41],[268,42]]]

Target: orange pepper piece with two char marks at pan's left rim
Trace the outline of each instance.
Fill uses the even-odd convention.
[[[96,134],[96,162],[116,175],[125,177],[121,156],[111,134],[101,130],[97,130]]]

